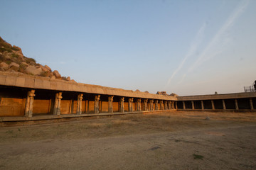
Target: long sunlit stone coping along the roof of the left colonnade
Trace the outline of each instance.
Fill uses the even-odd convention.
[[[54,91],[76,91],[87,94],[103,94],[110,96],[124,96],[133,98],[151,98],[156,100],[176,101],[175,96],[149,94],[140,91],[117,89],[107,86],[82,84],[73,81],[37,77],[22,73],[0,72],[0,85],[17,86],[30,89],[46,89]]]

